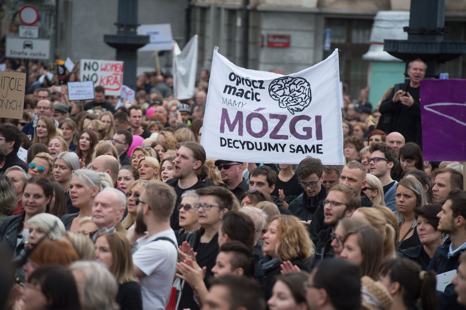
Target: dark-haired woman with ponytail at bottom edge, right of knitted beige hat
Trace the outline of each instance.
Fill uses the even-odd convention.
[[[393,298],[391,310],[437,309],[437,275],[432,270],[426,272],[415,262],[395,258],[382,264],[379,281]]]

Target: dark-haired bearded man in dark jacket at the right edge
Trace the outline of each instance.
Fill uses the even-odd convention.
[[[438,275],[447,273],[442,280],[449,281],[449,284],[439,293],[438,309],[464,309],[464,306],[458,304],[458,295],[451,282],[456,272],[448,272],[458,269],[459,255],[466,249],[466,192],[458,188],[452,189],[437,217],[440,219],[437,229],[449,234],[452,241],[435,250],[427,267],[427,271],[433,270]]]

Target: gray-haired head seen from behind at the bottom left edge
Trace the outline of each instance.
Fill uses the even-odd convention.
[[[75,276],[82,310],[117,310],[117,280],[100,262],[78,261],[69,265]]]

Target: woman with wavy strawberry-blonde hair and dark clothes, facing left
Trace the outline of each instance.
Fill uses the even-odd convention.
[[[265,296],[272,296],[272,280],[280,274],[280,265],[290,261],[299,269],[309,271],[304,262],[314,257],[314,245],[309,238],[308,230],[299,219],[291,215],[279,215],[270,222],[267,233],[264,234],[264,258],[259,261],[266,276]]]

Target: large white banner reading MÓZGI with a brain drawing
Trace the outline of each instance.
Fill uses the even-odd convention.
[[[338,52],[282,76],[240,68],[213,52],[201,144],[208,158],[343,165]]]

